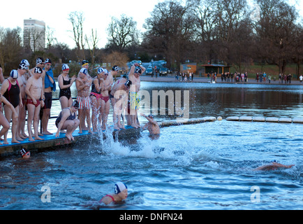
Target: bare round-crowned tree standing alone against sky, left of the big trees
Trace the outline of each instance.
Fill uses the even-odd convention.
[[[121,15],[120,20],[112,17],[112,22],[108,25],[108,44],[106,48],[122,52],[132,44],[138,44],[137,22],[133,18]]]

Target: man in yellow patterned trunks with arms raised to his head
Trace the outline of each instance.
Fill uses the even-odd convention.
[[[130,116],[131,116],[131,126],[138,128],[140,127],[138,122],[138,109],[139,109],[139,91],[140,91],[140,75],[145,72],[145,67],[138,63],[131,66],[131,71],[128,73],[128,79],[131,80],[131,90],[130,90]]]

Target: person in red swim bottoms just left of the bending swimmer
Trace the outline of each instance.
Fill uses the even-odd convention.
[[[109,92],[112,90],[112,83],[108,79],[108,70],[103,69],[101,73],[101,104],[99,113],[99,123],[101,129],[104,131],[108,123],[108,114],[110,113],[110,95]]]

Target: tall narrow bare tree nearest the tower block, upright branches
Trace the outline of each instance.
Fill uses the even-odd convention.
[[[71,21],[73,25],[73,40],[77,47],[77,57],[78,60],[85,59],[84,54],[84,34],[83,34],[83,24],[84,16],[82,12],[72,12],[68,15],[68,20]]]

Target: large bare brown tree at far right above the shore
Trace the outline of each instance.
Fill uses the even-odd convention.
[[[295,50],[295,7],[281,0],[258,0],[257,3],[260,7],[260,20],[255,24],[258,53],[267,63],[279,66],[279,73],[285,73]]]

